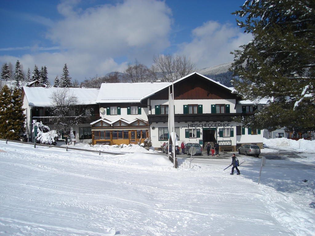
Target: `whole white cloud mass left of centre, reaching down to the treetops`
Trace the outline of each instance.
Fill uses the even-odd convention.
[[[83,81],[95,75],[123,71],[135,58],[151,65],[153,55],[169,46],[171,10],[163,1],[125,0],[87,9],[77,8],[77,3],[77,0],[63,1],[57,9],[64,18],[52,26],[51,21],[45,22],[50,26],[46,37],[56,47],[23,47],[34,49],[34,54],[19,58],[0,56],[0,62],[13,64],[19,59],[24,71],[28,67],[32,71],[35,64],[39,68],[46,65],[51,81],[61,75],[67,63],[72,79]],[[38,52],[58,48],[54,53]]]

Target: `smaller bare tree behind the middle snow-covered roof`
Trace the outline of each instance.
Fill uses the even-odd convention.
[[[125,81],[131,83],[150,82],[152,81],[152,71],[136,59],[133,64],[128,64],[124,71]]]

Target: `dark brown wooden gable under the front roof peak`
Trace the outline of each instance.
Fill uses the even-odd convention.
[[[150,98],[152,100],[168,100],[169,88],[155,93]],[[231,90],[204,78],[198,74],[174,83],[175,100],[185,99],[235,99],[237,96]]]

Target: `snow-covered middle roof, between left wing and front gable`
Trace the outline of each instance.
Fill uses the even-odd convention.
[[[139,103],[143,97],[171,85],[168,82],[147,83],[103,83],[96,99],[97,103]]]

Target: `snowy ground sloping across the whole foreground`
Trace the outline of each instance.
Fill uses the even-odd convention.
[[[315,235],[315,141],[280,141],[265,140],[262,155],[284,154],[266,160],[259,185],[261,159],[244,155],[237,176],[228,159],[174,169],[163,155],[0,141],[0,234]]]

